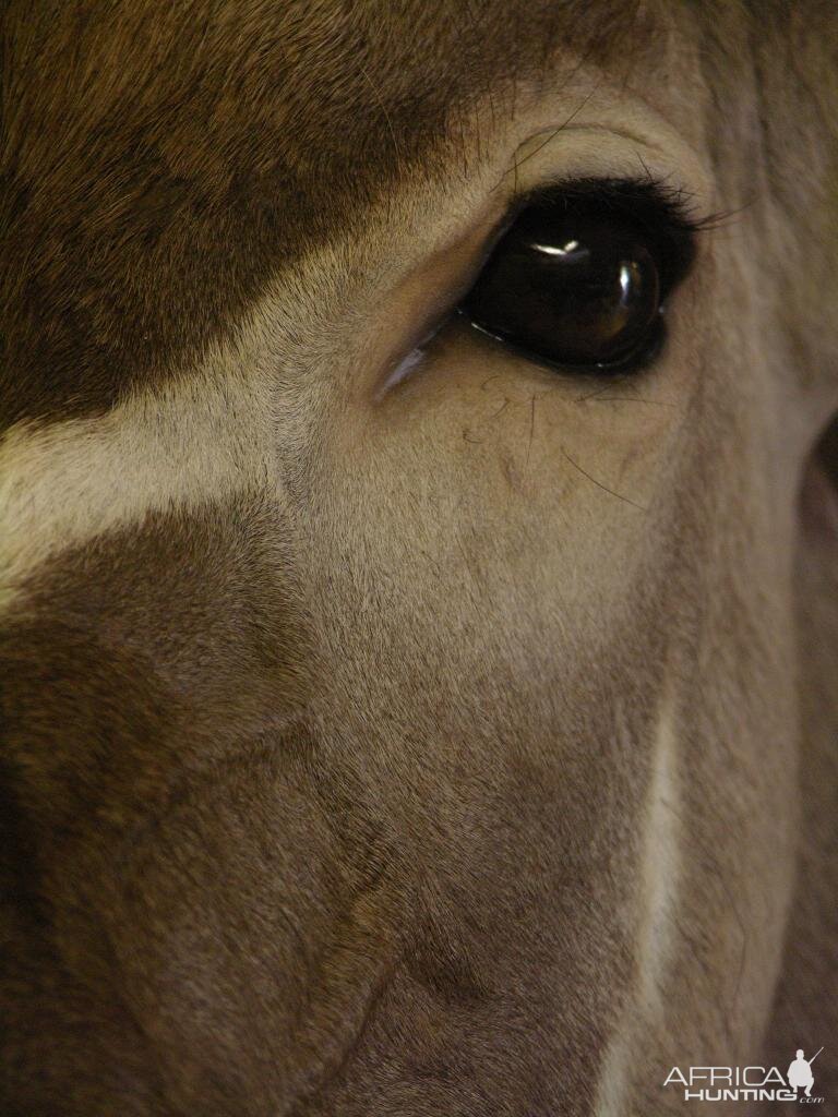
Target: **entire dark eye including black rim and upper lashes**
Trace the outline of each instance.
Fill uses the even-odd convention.
[[[685,231],[645,190],[613,185],[527,206],[461,309],[507,345],[562,369],[630,371],[663,338],[664,299],[685,270]],[[688,238],[686,238],[688,239]]]

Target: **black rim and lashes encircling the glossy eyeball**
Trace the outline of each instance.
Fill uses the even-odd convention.
[[[489,265],[504,237],[518,218],[534,208],[555,208],[562,216],[570,216],[574,209],[585,220],[591,218],[618,217],[626,228],[641,235],[647,241],[658,270],[660,294],[659,306],[649,331],[636,346],[608,361],[556,361],[540,353],[503,331],[493,331],[485,323],[477,323],[469,314],[467,303],[472,292],[458,307],[458,317],[484,337],[502,344],[510,352],[528,362],[573,376],[604,376],[638,374],[648,369],[664,349],[667,330],[665,312],[667,300],[675,288],[689,274],[696,257],[696,233],[712,228],[717,217],[696,217],[692,195],[665,181],[647,175],[642,179],[591,178],[560,181],[541,187],[520,197],[510,209],[502,228],[491,247],[487,248],[483,268]],[[479,283],[475,279],[472,290]]]

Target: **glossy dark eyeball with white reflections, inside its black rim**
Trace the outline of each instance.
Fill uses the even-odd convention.
[[[464,308],[503,341],[561,364],[613,364],[647,342],[660,311],[658,266],[625,214],[525,210]]]

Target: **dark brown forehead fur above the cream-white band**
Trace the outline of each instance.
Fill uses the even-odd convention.
[[[198,355],[446,128],[602,58],[635,4],[11,3],[4,422],[101,410]],[[627,36],[629,38],[627,38]]]

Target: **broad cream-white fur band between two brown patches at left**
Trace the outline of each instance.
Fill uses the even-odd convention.
[[[238,360],[237,360],[238,357]],[[0,441],[0,607],[68,547],[149,512],[265,486],[273,474],[264,380],[217,350],[191,378],[104,416],[19,423]]]

